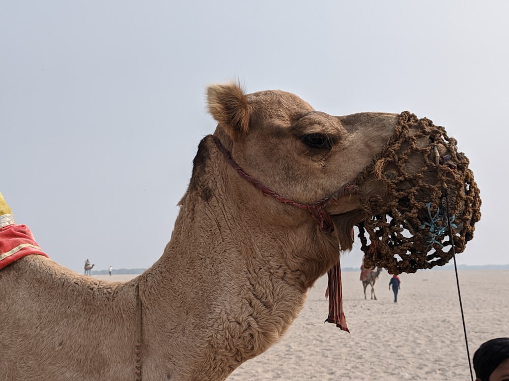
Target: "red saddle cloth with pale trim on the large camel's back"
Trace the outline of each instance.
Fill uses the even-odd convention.
[[[48,257],[26,225],[7,225],[0,229],[0,269],[31,254]]]

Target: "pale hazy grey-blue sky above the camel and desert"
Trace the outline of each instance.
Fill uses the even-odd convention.
[[[508,264],[506,1],[0,0],[0,190],[50,258],[162,254],[205,87],[282,89],[333,115],[409,110],[470,158],[482,218],[459,264]],[[359,242],[342,257],[358,267]]]

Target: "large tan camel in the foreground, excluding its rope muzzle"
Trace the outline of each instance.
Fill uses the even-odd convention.
[[[148,270],[109,282],[42,255],[1,270],[1,379],[224,380],[284,335],[306,291],[351,249],[365,218],[358,195],[391,197],[375,173],[355,181],[400,115],[332,116],[236,83],[207,94],[215,132]],[[420,166],[411,157],[407,169]],[[143,207],[130,208],[139,221]]]

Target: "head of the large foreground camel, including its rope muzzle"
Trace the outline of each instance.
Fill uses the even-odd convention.
[[[210,86],[208,106],[215,136],[266,194],[307,208],[344,250],[359,226],[366,267],[443,265],[453,253],[450,228],[456,252],[472,238],[480,199],[468,160],[430,120],[408,112],[332,116],[294,94],[245,94],[236,84]],[[309,220],[307,212],[273,214]]]

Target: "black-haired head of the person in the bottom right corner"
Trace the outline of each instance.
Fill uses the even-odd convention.
[[[509,337],[491,339],[474,353],[475,381],[509,380]]]

